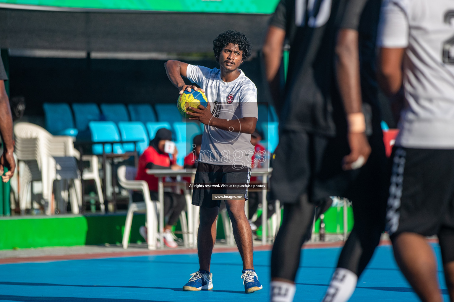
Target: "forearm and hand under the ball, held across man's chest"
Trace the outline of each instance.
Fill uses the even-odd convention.
[[[193,111],[191,112],[191,115],[194,116],[189,118],[189,120],[198,120],[202,124],[210,125],[230,132],[241,132],[247,134],[254,133],[257,124],[257,119],[255,117],[242,117],[237,120],[224,120],[213,116],[210,108],[210,103],[208,103],[208,107],[204,107],[203,105],[199,105],[198,108],[188,107],[189,110]]]

